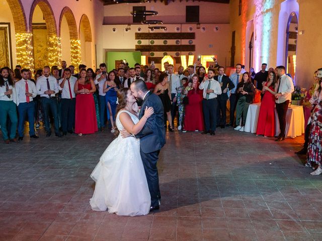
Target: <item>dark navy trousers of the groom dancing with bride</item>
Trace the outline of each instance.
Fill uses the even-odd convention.
[[[153,207],[159,205],[160,198],[159,177],[156,168],[159,152],[160,151],[143,153],[142,150],[140,150],[147,185],[151,195],[151,206]]]

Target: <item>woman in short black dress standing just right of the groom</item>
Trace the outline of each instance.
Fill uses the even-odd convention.
[[[169,131],[173,132],[172,126],[172,117],[171,117],[171,92],[170,92],[170,85],[168,82],[168,74],[162,73],[159,76],[158,82],[154,87],[154,94],[158,95],[162,101],[163,108],[165,114],[167,115],[167,119],[169,122]]]

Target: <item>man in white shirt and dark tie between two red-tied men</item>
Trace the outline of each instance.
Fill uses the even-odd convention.
[[[40,94],[41,105],[44,111],[45,129],[47,132],[46,137],[51,136],[50,122],[49,122],[49,109],[54,117],[55,135],[61,137],[59,132],[58,122],[58,106],[55,94],[59,92],[58,83],[55,77],[50,75],[49,66],[45,66],[42,70],[43,75],[37,79],[36,88]]]

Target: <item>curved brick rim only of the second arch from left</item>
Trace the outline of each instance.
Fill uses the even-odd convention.
[[[34,15],[34,11],[36,6],[39,6],[46,22],[46,27],[48,30],[49,37],[57,37],[57,26],[56,20],[54,17],[54,12],[51,9],[51,6],[47,0],[35,0],[30,9],[30,16],[29,16],[29,31],[32,31],[32,17]]]

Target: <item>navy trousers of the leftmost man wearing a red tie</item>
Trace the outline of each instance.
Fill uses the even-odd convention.
[[[18,105],[18,113],[19,113],[19,122],[18,122],[18,135],[19,137],[24,136],[25,130],[25,119],[26,114],[28,116],[29,122],[29,135],[35,135],[35,103],[33,101],[27,103],[20,103]]]

